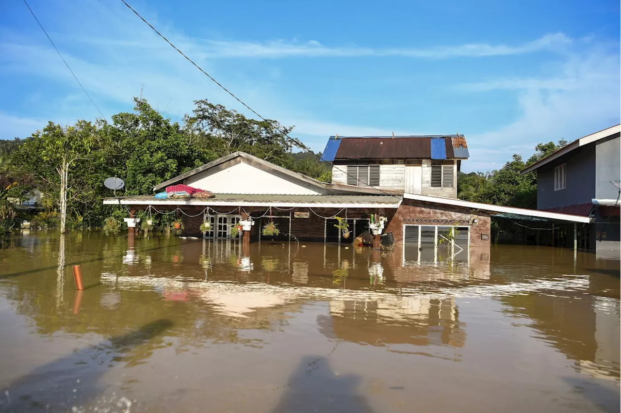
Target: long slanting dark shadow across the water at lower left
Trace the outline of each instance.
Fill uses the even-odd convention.
[[[105,390],[99,379],[107,368],[129,358],[135,347],[150,343],[172,326],[171,320],[158,319],[129,334],[112,337],[42,365],[2,389],[0,411],[71,411],[73,406],[92,402]],[[150,352],[141,351],[138,358],[148,355]],[[135,363],[133,358],[132,362]],[[117,407],[129,407],[124,406],[122,400],[109,402]]]

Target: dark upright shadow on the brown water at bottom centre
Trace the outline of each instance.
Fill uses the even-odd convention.
[[[335,374],[325,357],[304,357],[273,413],[372,413],[365,396],[357,391],[359,384],[360,376]]]

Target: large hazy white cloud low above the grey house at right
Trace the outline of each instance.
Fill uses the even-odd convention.
[[[514,152],[525,158],[538,143],[573,141],[621,122],[621,55],[593,49],[572,55],[553,79],[491,80],[481,91],[517,91],[520,114],[497,130],[469,134],[471,161],[466,171],[489,159],[508,161]],[[514,146],[519,143],[519,146]],[[502,148],[495,154],[476,148]],[[502,158],[499,158],[502,156]]]

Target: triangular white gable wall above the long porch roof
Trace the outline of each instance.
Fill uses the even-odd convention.
[[[227,162],[228,163],[228,162]],[[214,167],[188,177],[184,184],[214,193],[286,193],[291,195],[318,195],[319,188],[286,175],[263,171],[245,162],[228,167]]]

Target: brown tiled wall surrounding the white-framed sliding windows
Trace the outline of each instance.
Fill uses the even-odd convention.
[[[481,234],[490,234],[491,220],[487,213],[482,211],[471,211],[468,208],[451,207],[450,205],[430,205],[429,203],[420,203],[414,200],[403,200],[403,203],[397,210],[397,213],[388,221],[386,232],[392,232],[396,244],[403,242],[403,220],[406,218],[429,218],[445,219],[445,220],[463,220],[468,218],[477,218],[478,223],[470,224],[470,246],[489,248],[490,240],[481,239]],[[407,224],[407,223],[406,223]],[[442,225],[438,223],[412,223],[420,225]]]

